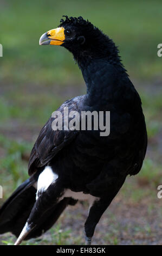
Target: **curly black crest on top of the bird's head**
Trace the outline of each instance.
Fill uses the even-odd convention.
[[[63,25],[82,25],[82,26],[93,26],[92,23],[90,23],[88,20],[84,20],[83,17],[79,16],[79,17],[68,17],[67,15],[63,15],[62,17],[65,17],[66,19],[63,20],[61,19],[60,20],[60,25],[59,27],[62,27]]]

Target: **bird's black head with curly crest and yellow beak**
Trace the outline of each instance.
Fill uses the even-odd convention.
[[[40,38],[40,45],[60,45],[73,53],[78,63],[87,58],[118,57],[114,42],[81,16],[61,19],[58,28],[51,29]]]

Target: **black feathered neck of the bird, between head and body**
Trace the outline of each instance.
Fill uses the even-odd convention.
[[[93,44],[87,45],[86,49],[73,51],[74,59],[86,82],[89,105],[106,105],[116,86],[116,72],[120,72],[120,76],[127,76],[118,53],[113,40],[100,32]]]

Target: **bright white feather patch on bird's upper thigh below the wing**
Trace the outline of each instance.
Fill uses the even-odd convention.
[[[36,200],[38,198],[38,194],[43,191],[46,191],[51,183],[54,183],[58,175],[53,172],[53,169],[50,166],[46,166],[43,172],[39,175],[37,181],[37,193]]]

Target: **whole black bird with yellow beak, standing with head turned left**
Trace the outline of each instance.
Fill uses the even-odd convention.
[[[64,15],[39,44],[62,46],[72,53],[87,91],[65,101],[43,126],[31,150],[29,179],[0,209],[0,234],[10,231],[18,237],[15,245],[20,245],[50,229],[68,205],[88,200],[84,234],[85,244],[91,245],[96,225],[127,176],[141,170],[147,149],[141,99],[118,47],[89,20]],[[87,113],[86,129],[75,129],[76,119],[73,127],[65,124],[72,121],[67,109],[77,113],[78,121]],[[53,129],[59,113],[62,129]],[[88,113],[94,114],[91,129]],[[101,135],[103,127],[96,124],[100,119],[103,127],[109,120],[106,134]]]

